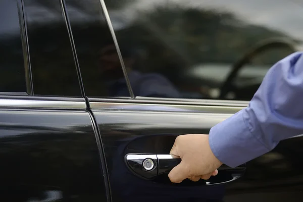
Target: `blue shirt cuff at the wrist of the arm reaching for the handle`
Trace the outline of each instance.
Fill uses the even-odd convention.
[[[244,113],[245,109],[237,112],[210,131],[209,143],[214,155],[223,164],[232,168],[270,150],[259,140],[261,133],[256,130],[251,132],[246,126]]]

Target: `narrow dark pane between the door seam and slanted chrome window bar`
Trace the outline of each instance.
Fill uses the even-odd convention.
[[[129,97],[117,50],[99,0],[66,0],[85,93]]]

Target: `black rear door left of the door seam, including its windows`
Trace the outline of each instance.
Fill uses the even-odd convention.
[[[1,201],[108,197],[61,3],[0,2]]]

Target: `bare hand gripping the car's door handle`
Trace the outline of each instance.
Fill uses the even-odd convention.
[[[175,183],[186,178],[192,181],[207,180],[212,175],[217,175],[217,169],[222,165],[211,150],[209,135],[180,135],[176,138],[170,154],[182,160],[168,174],[169,179]]]

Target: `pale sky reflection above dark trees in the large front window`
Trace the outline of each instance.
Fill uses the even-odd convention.
[[[156,6],[176,3],[184,7],[217,9],[236,14],[252,24],[280,30],[303,40],[303,3],[297,0],[140,0],[122,9],[124,19],[135,18],[134,10],[152,10]],[[117,11],[119,15],[121,11]],[[115,15],[115,12],[113,12]],[[121,15],[121,13],[120,13]]]

